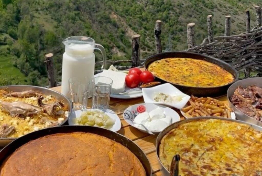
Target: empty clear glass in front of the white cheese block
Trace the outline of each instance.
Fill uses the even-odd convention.
[[[92,108],[108,109],[113,80],[108,77],[98,76],[92,79]]]

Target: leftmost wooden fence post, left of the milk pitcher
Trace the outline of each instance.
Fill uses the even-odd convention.
[[[54,62],[53,62],[53,53],[48,53],[45,55],[46,59],[46,68],[47,68],[47,77],[49,87],[56,87],[56,77],[54,73]]]

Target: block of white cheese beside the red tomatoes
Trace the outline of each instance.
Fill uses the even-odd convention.
[[[125,90],[125,77],[126,73],[115,72],[112,70],[103,70],[100,76],[109,77],[113,80],[111,94],[118,94]]]

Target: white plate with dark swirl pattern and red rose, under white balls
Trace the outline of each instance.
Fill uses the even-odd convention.
[[[141,128],[138,128],[137,126],[135,126],[132,122],[132,120],[130,120],[130,115],[134,114],[134,112],[137,110],[137,107],[140,105],[144,105],[146,108],[146,111],[150,112],[154,109],[156,109],[157,107],[161,108],[166,116],[170,116],[172,118],[172,123],[177,122],[180,120],[180,116],[178,115],[178,113],[176,111],[174,111],[171,108],[168,108],[166,106],[162,106],[162,105],[156,105],[156,104],[152,104],[152,103],[141,103],[141,104],[135,104],[133,106],[129,106],[127,109],[124,110],[123,113],[123,117],[124,120],[131,126],[135,127],[136,129],[138,129],[139,131],[142,131],[144,133],[147,133],[146,130],[143,128],[143,126],[141,126]],[[130,114],[132,113],[132,114]],[[161,131],[151,131],[154,134],[158,134]]]

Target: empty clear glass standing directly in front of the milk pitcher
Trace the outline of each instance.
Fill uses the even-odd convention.
[[[87,108],[90,79],[88,77],[72,77],[69,79],[69,98],[74,110]]]

